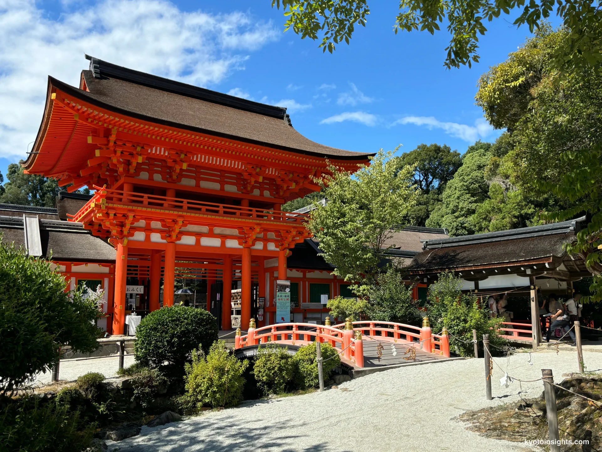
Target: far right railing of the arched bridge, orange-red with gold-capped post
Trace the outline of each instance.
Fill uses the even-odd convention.
[[[422,349],[430,353],[442,354],[450,357],[449,336],[445,334],[432,334],[428,318],[423,318],[423,327],[406,325],[397,322],[356,321],[353,330],[360,331],[364,336],[380,341],[397,342],[405,339],[412,344],[422,344]],[[334,328],[344,327],[344,323],[334,325]],[[376,334],[376,332],[380,334]],[[417,341],[416,341],[417,340]],[[420,347],[420,345],[418,345]]]

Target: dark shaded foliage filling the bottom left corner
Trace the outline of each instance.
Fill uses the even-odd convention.
[[[90,446],[96,425],[82,425],[79,411],[36,396],[5,400],[0,406],[3,451],[75,452]]]

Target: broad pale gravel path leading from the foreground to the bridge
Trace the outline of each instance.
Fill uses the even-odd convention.
[[[602,369],[602,353],[584,352],[588,370]],[[521,380],[553,369],[555,381],[577,371],[574,351],[544,351],[495,362]],[[483,359],[408,366],[347,381],[323,393],[254,401],[206,412],[115,443],[121,452],[190,451],[527,451],[522,443],[487,439],[455,419],[466,410],[518,400],[518,382],[500,388],[494,366],[494,400],[485,400]],[[523,397],[541,394],[542,382],[523,383]]]

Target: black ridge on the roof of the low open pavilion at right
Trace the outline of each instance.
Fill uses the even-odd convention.
[[[580,230],[580,223],[585,221],[585,219],[585,216],[582,216],[580,218],[559,223],[473,234],[471,236],[424,240],[422,248],[423,250],[435,250],[437,248],[448,248],[450,246],[476,245],[478,243],[500,242],[502,240],[527,239],[530,237],[551,236],[569,232],[577,233]]]

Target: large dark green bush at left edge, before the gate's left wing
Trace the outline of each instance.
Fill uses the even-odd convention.
[[[0,240],[0,392],[49,371],[60,345],[90,353],[98,348],[101,313],[81,292],[65,293],[63,275],[43,259]]]

